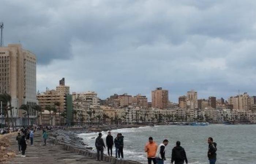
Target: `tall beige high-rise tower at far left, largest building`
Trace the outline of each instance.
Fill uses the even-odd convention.
[[[12,117],[15,125],[27,125],[26,114],[19,110],[22,104],[30,106],[29,125],[35,123],[37,113],[31,106],[36,99],[36,56],[24,50],[21,44],[0,47],[0,94],[11,95]],[[2,122],[4,120],[1,120]]]

